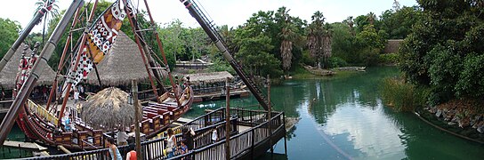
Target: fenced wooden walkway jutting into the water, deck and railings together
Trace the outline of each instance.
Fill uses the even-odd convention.
[[[268,112],[262,110],[247,110],[230,108],[230,159],[251,159],[260,156],[286,136],[285,116],[281,112]],[[216,109],[204,116],[199,116],[183,126],[193,128],[196,135],[193,139],[194,149],[190,153],[181,155],[175,151],[175,155],[169,159],[224,159],[225,158],[225,108]],[[189,121],[189,119],[181,119]],[[212,142],[212,131],[217,130],[217,142]],[[181,127],[174,128],[177,141],[181,140]],[[161,139],[148,140],[141,143],[141,156],[143,159],[166,159],[164,134]],[[118,147],[121,155],[130,151],[128,146]],[[78,152],[57,156],[41,156],[29,159],[94,159],[109,155],[107,148]]]

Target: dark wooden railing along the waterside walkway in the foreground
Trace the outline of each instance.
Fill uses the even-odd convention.
[[[191,126],[198,127],[196,130],[197,134],[194,138],[194,143],[196,144],[195,149],[191,150],[190,153],[184,155],[174,156],[171,159],[179,159],[181,157],[191,157],[191,159],[224,159],[225,158],[225,139],[213,143],[210,140],[210,131],[214,127],[217,129],[219,138],[225,137],[225,122],[220,121],[212,125],[206,125],[206,117],[216,117],[214,119],[219,119],[224,113],[224,108],[216,109],[204,116],[199,116],[194,121],[190,122]],[[222,115],[221,115],[222,114]],[[244,156],[247,153],[254,152],[256,146],[260,146],[263,142],[269,140],[272,136],[280,134],[284,131],[284,116],[283,113],[273,112],[270,121],[264,119],[263,115],[267,115],[266,111],[253,111],[246,109],[232,108],[230,109],[230,114],[246,116],[245,118],[239,116],[232,116],[231,118],[231,136],[230,136],[230,153],[232,158],[237,158],[239,156]],[[245,119],[246,124],[256,124],[253,128],[246,130],[245,132],[238,133],[238,123],[240,120]],[[270,127],[269,127],[270,125]],[[270,128],[270,130],[269,130]],[[176,135],[176,140],[181,140],[181,134]],[[132,150],[128,146],[118,147],[121,156],[125,156],[127,152]],[[165,159],[166,156],[163,154],[165,149],[165,137],[157,140],[149,140],[141,142],[141,153],[143,159]],[[175,151],[175,154],[178,154]],[[110,159],[109,150],[107,148],[77,152],[73,154],[59,155],[59,156],[41,156],[41,157],[30,157],[28,159]]]

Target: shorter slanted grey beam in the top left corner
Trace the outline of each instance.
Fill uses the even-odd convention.
[[[48,6],[52,5],[51,1],[47,1],[47,3],[48,3],[47,4]],[[53,3],[53,1],[52,1],[52,3]],[[34,28],[40,22],[40,20],[42,20],[42,17],[44,17],[44,14],[48,11],[50,11],[50,9],[45,8],[45,7],[38,10],[38,12],[36,13],[36,16],[32,20],[30,20],[27,27],[24,28],[21,31],[19,38],[17,38],[17,40],[15,40],[15,43],[12,44],[12,47],[10,47],[8,52],[5,53],[4,58],[2,60],[0,60],[0,71],[2,69],[4,69],[8,60],[12,59],[13,53],[15,53],[17,51],[17,49],[19,49],[20,44],[22,44],[22,42],[25,40],[25,38],[28,36],[30,31],[32,30],[32,28]]]

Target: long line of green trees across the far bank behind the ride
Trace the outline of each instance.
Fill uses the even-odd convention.
[[[111,3],[100,1],[94,17],[101,15]],[[87,6],[92,7],[92,4]],[[85,9],[81,15],[85,15]],[[89,11],[89,10],[87,10]],[[376,65],[382,61],[394,60],[392,56],[382,56],[388,38],[406,37],[421,15],[418,7],[394,7],[378,17],[374,12],[350,16],[342,22],[327,23],[323,12],[314,12],[311,22],[300,19],[284,6],[276,11],[255,12],[246,23],[237,28],[217,27],[229,51],[244,68],[257,69],[254,75],[273,77],[291,74],[300,64],[319,68],[334,68],[347,65]],[[62,12],[61,12],[62,13]],[[141,28],[151,24],[146,12],[137,13]],[[60,20],[60,14],[53,16],[47,28],[47,37]],[[85,18],[76,28],[85,25]],[[171,67],[175,60],[194,60],[209,57],[215,66],[210,70],[230,70],[230,66],[207,38],[202,28],[186,28],[180,20],[154,24],[163,43],[163,48]],[[121,28],[134,39],[133,29],[128,19]],[[42,39],[42,34],[28,36],[28,44]],[[60,39],[58,46],[64,46],[68,33]],[[74,43],[81,32],[73,33]],[[149,46],[160,51],[153,34],[145,32]],[[57,47],[50,65],[57,68],[63,47]],[[384,59],[384,60],[382,60]]]

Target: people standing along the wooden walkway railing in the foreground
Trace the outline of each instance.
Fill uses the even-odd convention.
[[[189,129],[187,127],[181,128],[181,140],[178,142],[175,138],[174,132],[172,128],[168,128],[166,131],[168,133],[168,136],[165,140],[166,147],[164,149],[164,152],[166,154],[166,158],[170,158],[175,156],[176,154],[186,154],[190,152],[190,149],[193,149],[193,138],[195,136],[195,132],[193,129]],[[115,143],[115,140],[111,137],[108,137],[106,139],[106,144],[107,147],[109,148],[109,156],[113,160],[122,160],[123,157],[121,156],[121,152],[119,152],[119,149],[117,146],[125,146],[127,145],[127,139],[129,138],[129,135],[124,132],[117,132],[117,143]],[[126,160],[133,160],[136,159],[136,151],[134,150],[133,145],[130,145],[131,151],[126,154]]]

